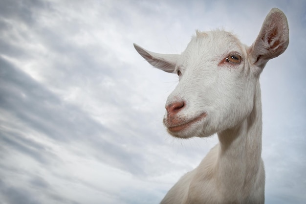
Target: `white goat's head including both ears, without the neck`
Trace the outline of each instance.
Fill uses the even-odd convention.
[[[250,47],[225,31],[198,32],[180,54],[158,54],[135,45],[151,65],[176,73],[164,124],[176,137],[210,136],[242,122],[253,110],[259,75],[289,43],[284,13],[272,9]]]

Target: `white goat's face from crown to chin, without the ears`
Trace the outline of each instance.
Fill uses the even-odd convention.
[[[166,102],[164,124],[177,137],[210,136],[243,121],[253,108],[260,68],[225,31],[197,32],[177,59],[179,83]]]

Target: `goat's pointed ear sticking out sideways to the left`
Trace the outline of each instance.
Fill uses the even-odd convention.
[[[159,54],[155,52],[150,52],[137,44],[134,44],[134,47],[137,50],[137,52],[155,68],[159,68],[166,72],[174,73],[176,62],[180,55]]]

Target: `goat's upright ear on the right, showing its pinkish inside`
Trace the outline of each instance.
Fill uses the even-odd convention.
[[[289,26],[283,11],[273,8],[266,16],[262,29],[249,48],[252,64],[264,68],[272,58],[282,54],[289,44]]]

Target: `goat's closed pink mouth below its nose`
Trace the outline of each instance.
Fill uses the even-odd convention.
[[[184,121],[184,120],[178,120],[177,122],[175,121],[168,121],[168,118],[164,120],[164,123],[168,129],[168,131],[176,133],[182,130],[185,130],[192,124],[196,123],[197,121],[201,120],[202,118],[206,117],[206,113],[202,113],[198,115],[197,117],[194,117],[190,120]]]

